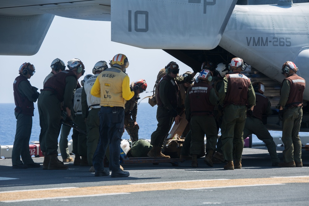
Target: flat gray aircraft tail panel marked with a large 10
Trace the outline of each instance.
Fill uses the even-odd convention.
[[[112,0],[112,41],[152,49],[213,49],[237,0]]]

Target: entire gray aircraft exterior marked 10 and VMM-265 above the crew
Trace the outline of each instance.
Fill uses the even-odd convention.
[[[281,82],[281,66],[293,61],[309,80],[309,3],[291,0],[2,0],[0,55],[34,55],[54,15],[111,21],[112,41],[167,53],[222,48],[224,62],[241,57],[259,72]],[[278,2],[278,4],[276,4]],[[207,55],[190,53],[184,63],[201,65]],[[222,55],[221,55],[222,56]],[[181,56],[175,55],[176,58]],[[190,65],[190,62],[194,64]],[[219,63],[219,60],[217,61]],[[304,99],[309,100],[309,90]]]

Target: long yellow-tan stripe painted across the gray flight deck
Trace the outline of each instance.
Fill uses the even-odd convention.
[[[102,182],[104,183],[104,182]],[[20,191],[7,192],[0,194],[0,201],[6,200],[26,200],[38,198],[64,197],[64,196],[85,196],[96,194],[123,193],[123,192],[141,192],[141,191],[159,191],[175,190],[203,187],[231,187],[246,185],[269,185],[284,183],[309,183],[309,177],[276,177],[276,178],[256,178],[256,179],[227,179],[227,180],[205,180],[188,182],[160,182],[151,184],[128,184],[128,185],[109,185],[96,187],[80,187],[68,189],[43,190],[40,192]]]

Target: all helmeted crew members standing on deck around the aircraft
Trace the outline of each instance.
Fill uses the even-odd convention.
[[[92,166],[91,171],[95,172],[95,176],[107,176],[110,172],[103,165],[103,159],[107,157],[111,177],[128,177],[129,172],[124,171],[119,164],[121,137],[126,129],[131,141],[138,140],[137,101],[139,94],[147,88],[144,79],[130,83],[125,73],[128,66],[129,61],[124,54],[114,56],[110,67],[106,61],[99,61],[92,69],[93,75],[86,75],[80,86],[78,79],[85,72],[83,62],[71,59],[65,65],[60,59],[55,59],[51,64],[52,72],[45,78],[44,87],[39,93],[28,81],[35,73],[34,65],[21,65],[20,75],[13,84],[17,119],[13,168],[40,167],[40,164],[33,162],[29,153],[33,103],[37,100],[43,169],[68,168],[63,162],[71,162],[73,158],[67,149],[67,136],[70,125],[78,124],[79,131],[73,130],[72,136],[74,165]],[[173,122],[180,123],[180,112],[184,110],[189,128],[185,132],[187,136],[180,158],[192,159],[192,167],[198,166],[197,157],[201,154],[201,148],[204,148],[206,135],[204,162],[213,166],[215,160],[220,160],[226,162],[226,170],[240,169],[243,137],[250,134],[256,134],[265,142],[272,166],[301,167],[298,132],[305,80],[296,74],[298,68],[293,62],[287,61],[282,66],[282,74],[286,78],[282,82],[277,108],[282,120],[285,149],[283,162],[280,162],[273,138],[262,123],[262,115],[272,114],[270,102],[263,95],[265,87],[261,82],[252,85],[250,79],[241,73],[244,69],[243,60],[237,57],[231,60],[228,67],[223,63],[213,65],[205,61],[197,80],[192,83],[198,73],[196,69],[193,69],[193,73],[186,72],[179,76],[178,64],[170,62],[158,83],[158,127],[151,135],[152,149],[147,155],[170,158],[162,153],[163,141]],[[232,73],[228,74],[229,71]],[[179,96],[182,97],[179,99]],[[64,124],[62,129],[61,123]],[[221,137],[218,139],[219,128]],[[63,161],[57,158],[60,131]]]

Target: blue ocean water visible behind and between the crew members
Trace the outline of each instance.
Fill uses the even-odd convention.
[[[145,102],[144,102],[145,101]],[[156,111],[157,107],[151,107],[146,100],[144,100],[138,105],[138,115],[137,115],[137,123],[140,127],[139,129],[139,138],[142,139],[150,139],[152,132],[154,132],[157,128],[157,120],[156,120]],[[32,133],[30,137],[31,141],[39,141],[40,135],[40,121],[39,121],[39,113],[37,110],[37,104],[34,105],[34,117],[32,118]],[[16,119],[14,116],[14,103],[0,103],[0,145],[13,145],[15,130],[16,130]],[[281,131],[270,131],[271,135],[279,136],[282,134]],[[68,140],[71,140],[72,130],[68,137]],[[60,136],[58,137],[58,141]],[[125,133],[122,136],[122,139],[130,139],[128,133]],[[261,142],[255,135],[252,135],[252,142]]]

